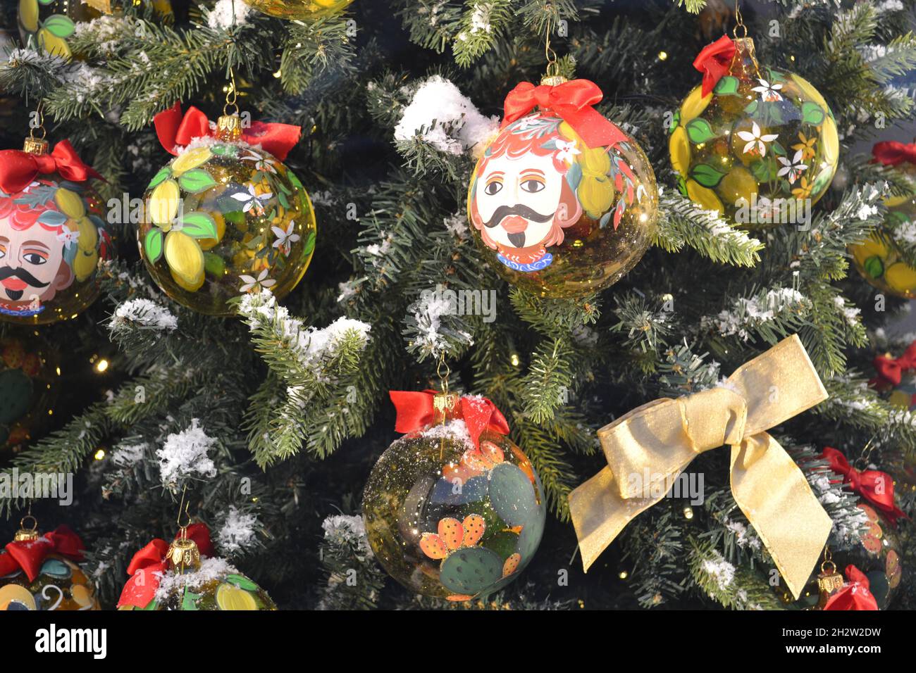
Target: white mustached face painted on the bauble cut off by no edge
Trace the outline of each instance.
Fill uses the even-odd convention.
[[[490,159],[474,197],[490,238],[507,248],[540,244],[558,210],[565,208],[560,202],[562,180],[551,155]]]

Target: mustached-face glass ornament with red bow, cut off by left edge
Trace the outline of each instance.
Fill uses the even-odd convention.
[[[0,320],[67,320],[98,296],[112,244],[90,178],[101,176],[66,140],[0,151]]]

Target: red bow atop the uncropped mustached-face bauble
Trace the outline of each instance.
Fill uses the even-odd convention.
[[[523,81],[506,96],[503,126],[540,107],[571,125],[588,147],[626,142],[627,135],[592,107],[600,103],[603,96],[594,81],[571,80],[556,86],[535,86],[530,81]]]

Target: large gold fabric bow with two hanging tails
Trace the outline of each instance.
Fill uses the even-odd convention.
[[[735,502],[798,598],[833,522],[798,465],[766,430],[826,398],[793,334],[738,367],[725,385],[657,399],[598,430],[608,466],[569,496],[584,570],[630,519],[668,493],[696,456],[729,444]]]

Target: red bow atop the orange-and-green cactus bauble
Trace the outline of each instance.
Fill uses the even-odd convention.
[[[434,390],[423,392],[409,390],[390,390],[388,395],[398,410],[395,420],[396,432],[414,432],[431,426],[438,418],[436,410],[432,407],[432,398],[436,396]],[[506,417],[486,397],[461,398],[461,418],[467,426],[468,434],[474,446],[479,448],[480,433],[491,429],[501,435],[509,433]]]

